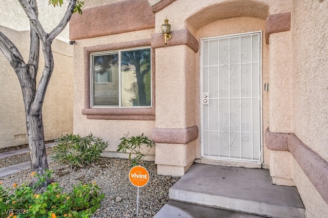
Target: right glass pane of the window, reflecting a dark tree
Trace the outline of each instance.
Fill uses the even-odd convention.
[[[121,52],[121,105],[151,106],[150,49]]]

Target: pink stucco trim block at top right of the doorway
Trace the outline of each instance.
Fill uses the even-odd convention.
[[[289,30],[291,30],[291,12],[268,16],[265,21],[265,43],[269,45],[270,34]]]

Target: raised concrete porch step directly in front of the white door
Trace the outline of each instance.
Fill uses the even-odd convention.
[[[194,164],[170,200],[267,217],[305,217],[295,187],[272,185],[269,170]]]

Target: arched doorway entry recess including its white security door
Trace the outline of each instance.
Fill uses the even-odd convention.
[[[262,100],[268,106],[268,96],[262,96],[262,62],[267,66],[268,61],[262,33],[268,13],[265,3],[227,1],[187,19],[200,42],[201,163],[261,167],[263,123],[268,120],[262,116]],[[268,78],[267,69],[263,75]]]

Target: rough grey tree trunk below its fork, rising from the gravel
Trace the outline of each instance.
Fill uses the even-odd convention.
[[[48,162],[46,155],[46,147],[44,140],[44,130],[42,121],[42,109],[36,113],[26,113],[26,125],[28,142],[30,147],[31,156],[31,169],[32,172],[36,172],[39,176],[46,176],[46,170],[48,170]],[[33,185],[38,182],[37,177],[33,177]],[[50,183],[50,178],[46,178],[46,181],[40,186],[47,186]]]

